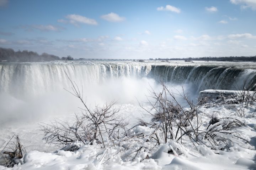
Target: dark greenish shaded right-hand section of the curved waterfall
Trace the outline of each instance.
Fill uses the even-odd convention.
[[[244,81],[252,89],[256,83],[255,69],[225,66],[152,66],[150,77],[175,84],[192,83],[197,92],[206,89],[238,90]]]

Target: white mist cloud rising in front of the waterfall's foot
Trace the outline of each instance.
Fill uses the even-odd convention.
[[[74,80],[77,82],[77,80]],[[51,85],[51,83],[49,82]],[[81,113],[82,103],[78,98],[71,95],[70,86],[43,92],[41,94],[30,94],[30,89],[23,92],[23,96],[15,97],[11,94],[0,94],[0,123],[10,122],[30,122],[43,121],[52,117],[62,117],[74,113]],[[132,104],[139,107],[149,96],[149,90],[160,92],[162,86],[159,82],[151,78],[119,78],[108,79],[101,84],[80,84],[77,83],[79,90],[83,92],[84,101],[87,106],[93,109],[96,105],[117,101],[122,104]],[[182,92],[181,85],[171,83],[166,84],[175,93]],[[185,92],[191,91],[192,85],[184,84]],[[196,94],[190,94],[192,99],[196,99]],[[80,107],[80,108],[79,108]]]

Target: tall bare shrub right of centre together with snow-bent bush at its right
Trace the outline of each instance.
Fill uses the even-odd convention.
[[[188,139],[194,146],[205,145],[214,150],[228,149],[233,146],[234,142],[239,145],[250,145],[235,130],[245,126],[238,119],[213,117],[209,126],[204,128],[201,117],[206,114],[199,110],[200,102],[194,104],[188,100],[184,92],[183,94],[178,93],[176,95],[181,96],[186,103],[182,106],[173,92],[169,91],[164,84],[162,87],[163,90],[159,93],[151,90],[151,95],[148,97],[147,103],[152,108],[149,111],[145,109],[145,111],[148,113],[146,116],[152,117],[152,121],[140,121],[140,125],[154,129],[154,133],[159,134],[159,137],[147,136],[150,142],[157,145],[175,140],[185,144]]]

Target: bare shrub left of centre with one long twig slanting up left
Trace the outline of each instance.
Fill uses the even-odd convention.
[[[81,108],[83,113],[82,115],[75,115],[75,122],[72,124],[59,119],[55,119],[50,124],[42,123],[43,139],[48,143],[62,145],[69,145],[75,141],[81,141],[84,144],[91,144],[96,141],[101,143],[104,148],[106,147],[106,141],[117,140],[119,131],[122,131],[127,123],[118,113],[119,109],[115,107],[116,102],[106,103],[102,107],[97,105],[94,110],[91,110],[84,102],[82,93],[80,93],[76,83],[71,80],[70,83],[72,91],[67,91],[82,102],[84,105],[84,108]]]

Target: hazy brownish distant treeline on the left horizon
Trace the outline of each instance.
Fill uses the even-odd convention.
[[[58,56],[42,53],[39,55],[37,52],[23,50],[14,51],[13,49],[6,49],[0,47],[0,62],[1,61],[18,61],[18,62],[37,62],[37,61],[52,61],[60,60]]]

